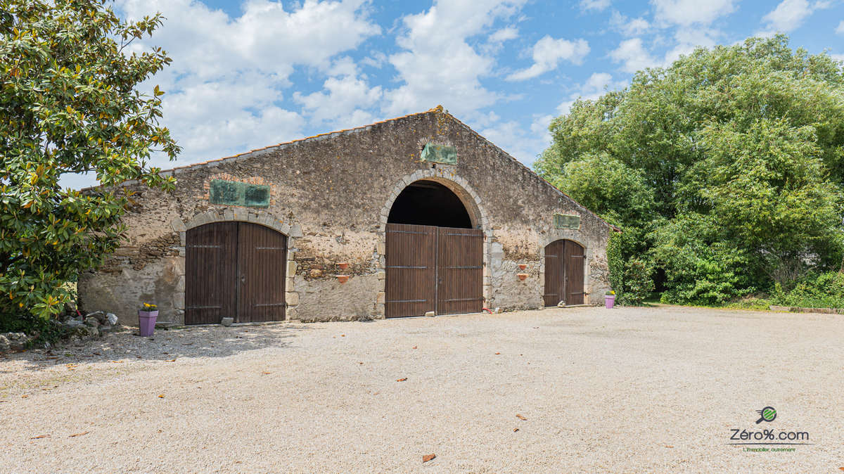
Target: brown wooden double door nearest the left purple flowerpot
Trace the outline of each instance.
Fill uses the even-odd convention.
[[[287,237],[258,224],[188,229],[185,324],[284,320]]]

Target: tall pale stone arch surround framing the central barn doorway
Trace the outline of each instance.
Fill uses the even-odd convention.
[[[493,240],[493,234],[488,214],[481,204],[478,193],[474,191],[467,180],[457,175],[457,172],[451,166],[437,166],[436,168],[416,170],[396,181],[395,186],[392,186],[392,190],[387,197],[387,202],[381,207],[381,220],[378,226],[378,246],[376,250],[378,256],[378,298],[376,299],[375,315],[378,318],[384,317],[384,301],[387,297],[385,293],[387,278],[387,218],[390,215],[392,204],[396,201],[398,195],[404,188],[418,180],[436,181],[446,186],[460,198],[460,202],[463,202],[463,207],[466,207],[473,228],[481,229],[484,232],[484,305],[492,298],[490,244]]]

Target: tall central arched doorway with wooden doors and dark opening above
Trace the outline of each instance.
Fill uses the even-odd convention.
[[[483,309],[484,233],[448,187],[418,180],[403,189],[387,217],[386,250],[386,317]]]

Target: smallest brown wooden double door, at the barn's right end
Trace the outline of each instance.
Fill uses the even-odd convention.
[[[583,267],[586,253],[571,240],[555,240],[545,246],[545,306],[583,304]]]

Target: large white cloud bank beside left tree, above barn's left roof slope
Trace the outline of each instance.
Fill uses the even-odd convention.
[[[381,29],[367,18],[360,0],[306,0],[289,11],[282,3],[252,0],[232,18],[192,0],[118,0],[127,19],[160,11],[164,25],[151,40],[133,43],[133,51],[162,46],[173,58],[170,67],[148,81],[166,91],[162,123],[184,148],[179,164],[258,148],[300,137],[304,117],[281,104],[296,67],[312,67],[338,76],[324,83],[326,97],[357,92],[354,62],[333,60],[359,46]],[[305,110],[322,120],[320,94],[306,100]],[[380,94],[379,90],[370,94]],[[344,97],[365,103],[371,95]],[[304,100],[304,99],[303,99]],[[162,158],[155,164],[166,165]]]

